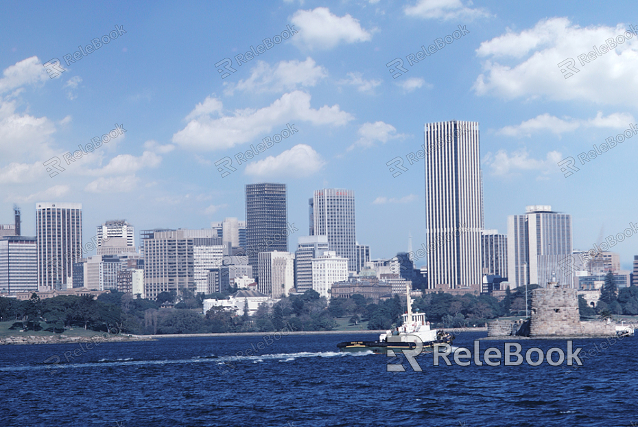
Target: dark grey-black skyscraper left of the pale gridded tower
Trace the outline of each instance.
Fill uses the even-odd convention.
[[[288,250],[286,185],[246,185],[246,255],[255,279],[259,253]]]

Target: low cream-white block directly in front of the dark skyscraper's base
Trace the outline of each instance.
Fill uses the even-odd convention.
[[[260,252],[257,290],[272,299],[287,297],[294,289],[294,254]]]

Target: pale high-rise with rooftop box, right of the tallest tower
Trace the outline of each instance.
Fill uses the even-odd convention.
[[[571,259],[573,252],[571,215],[554,212],[550,205],[525,210],[523,215],[508,216],[508,281],[515,287],[546,287],[555,276],[558,284],[571,288],[574,271],[565,268],[565,259]]]

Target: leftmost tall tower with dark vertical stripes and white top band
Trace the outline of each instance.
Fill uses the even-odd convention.
[[[66,289],[82,259],[82,204],[36,203],[38,290]]]

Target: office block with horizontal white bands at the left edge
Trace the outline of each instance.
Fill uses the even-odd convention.
[[[38,290],[38,239],[20,235],[0,237],[0,293]]]

